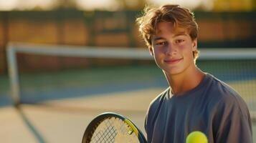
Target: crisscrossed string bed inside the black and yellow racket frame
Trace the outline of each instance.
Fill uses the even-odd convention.
[[[115,143],[115,142],[139,142],[131,127],[123,120],[111,117],[101,122],[90,142]]]

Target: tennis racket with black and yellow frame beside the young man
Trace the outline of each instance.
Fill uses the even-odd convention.
[[[113,112],[99,114],[85,129],[82,143],[146,143],[142,132],[130,119]]]

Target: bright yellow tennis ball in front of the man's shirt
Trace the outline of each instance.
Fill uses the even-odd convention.
[[[191,132],[188,137],[186,137],[186,143],[207,143],[207,136],[199,131]]]

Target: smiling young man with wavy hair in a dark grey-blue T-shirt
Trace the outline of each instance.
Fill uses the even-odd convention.
[[[148,142],[183,143],[193,131],[204,132],[211,143],[252,142],[250,114],[240,95],[195,64],[194,14],[179,5],[144,12],[139,30],[170,86],[148,108]]]

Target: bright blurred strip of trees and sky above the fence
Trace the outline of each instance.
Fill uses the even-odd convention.
[[[174,3],[206,11],[252,11],[254,0],[0,0],[1,11],[11,10],[52,10],[60,7],[80,10],[141,9],[145,4]]]

